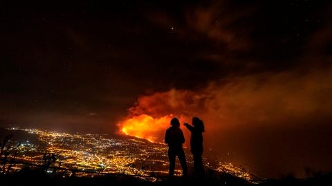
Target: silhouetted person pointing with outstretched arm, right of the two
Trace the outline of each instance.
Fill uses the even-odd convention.
[[[203,132],[204,132],[204,123],[200,118],[193,117],[192,125],[184,123],[188,130],[191,132],[190,136],[190,151],[194,158],[194,169],[196,176],[204,176],[204,167],[203,167]]]

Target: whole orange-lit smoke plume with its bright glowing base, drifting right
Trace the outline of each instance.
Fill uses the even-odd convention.
[[[181,123],[192,123],[191,118],[198,116],[205,124],[206,149],[218,149],[223,154],[241,152],[249,146],[261,150],[256,142],[243,147],[243,139],[265,136],[266,131],[259,130],[263,127],[287,131],[289,127],[303,127],[308,118],[323,121],[331,117],[331,74],[331,69],[252,74],[225,78],[195,91],[172,89],[140,96],[129,108],[127,118],[118,123],[119,130],[163,143],[173,116]],[[184,127],[183,133],[188,143],[190,132]],[[257,151],[251,153],[255,159]]]

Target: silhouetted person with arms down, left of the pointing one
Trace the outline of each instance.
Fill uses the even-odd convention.
[[[178,118],[172,118],[171,125],[165,134],[165,143],[168,144],[169,176],[174,176],[176,156],[178,156],[178,160],[181,163],[183,176],[187,176],[187,163],[182,147],[183,143],[185,143],[185,136],[183,136],[183,132],[180,129]]]

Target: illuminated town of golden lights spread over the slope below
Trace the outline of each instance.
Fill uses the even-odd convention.
[[[17,161],[42,165],[45,153],[57,154],[59,158],[53,167],[59,167],[57,172],[63,172],[64,176],[72,176],[73,170],[76,170],[75,176],[123,174],[147,177],[150,180],[168,174],[165,144],[151,143],[132,136],[114,138],[108,134],[68,134],[21,128],[8,130],[24,132],[30,136],[17,142],[20,143],[15,157]],[[29,141],[31,136],[35,136],[36,139]],[[192,156],[187,149],[185,151],[188,165],[192,167]],[[225,172],[246,180],[251,179],[250,174],[232,163],[205,162],[205,166],[214,172]],[[12,167],[12,171],[18,171],[23,167],[24,164],[17,163]],[[181,176],[181,166],[178,162],[176,176]]]

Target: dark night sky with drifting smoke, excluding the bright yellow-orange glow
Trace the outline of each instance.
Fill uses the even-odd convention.
[[[199,116],[206,156],[270,177],[331,169],[331,8],[1,1],[0,126],[113,134],[138,114]]]

